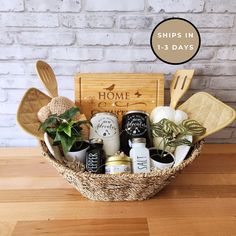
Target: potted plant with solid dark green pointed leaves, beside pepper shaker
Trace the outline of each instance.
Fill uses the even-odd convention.
[[[68,161],[85,162],[85,152],[88,142],[83,140],[82,125],[89,125],[87,120],[76,120],[78,107],[72,107],[61,115],[50,115],[39,127],[53,140],[53,145],[59,146]]]

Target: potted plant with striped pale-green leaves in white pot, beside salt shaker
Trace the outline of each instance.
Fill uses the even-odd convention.
[[[152,134],[161,138],[159,147],[150,149],[151,165],[158,169],[172,167],[175,157],[168,152],[170,148],[192,145],[192,136],[199,136],[206,132],[206,128],[195,120],[184,120],[179,125],[168,119],[162,119],[152,124]]]

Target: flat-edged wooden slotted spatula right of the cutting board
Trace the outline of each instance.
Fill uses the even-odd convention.
[[[176,108],[180,98],[187,92],[194,70],[177,70],[170,85],[170,107]]]

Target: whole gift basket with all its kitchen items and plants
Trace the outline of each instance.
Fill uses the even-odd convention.
[[[200,154],[205,137],[235,120],[234,109],[205,92],[176,109],[193,70],[173,76],[170,106],[163,106],[160,74],[79,74],[75,103],[58,95],[46,62],[38,61],[36,71],[49,96],[30,88],[17,121],[39,140],[44,158],[92,200],[151,198]]]

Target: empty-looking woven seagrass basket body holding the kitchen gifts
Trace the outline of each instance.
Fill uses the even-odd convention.
[[[175,168],[120,175],[93,174],[78,166],[68,168],[53,158],[43,141],[40,144],[43,156],[84,197],[96,201],[141,201],[156,195],[189,165],[200,154],[203,141],[195,144],[188,158]]]

